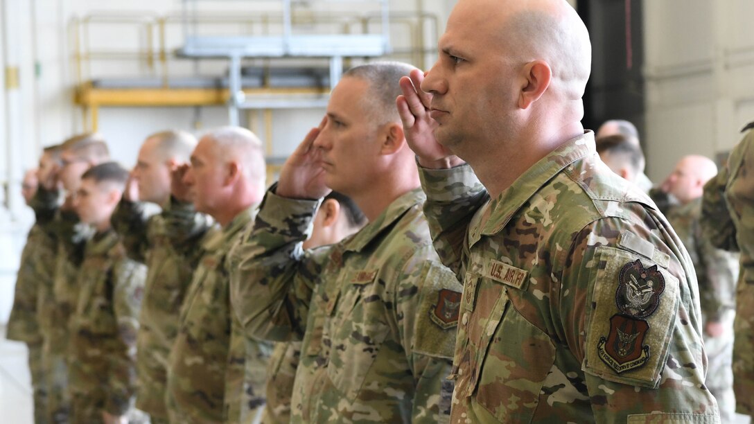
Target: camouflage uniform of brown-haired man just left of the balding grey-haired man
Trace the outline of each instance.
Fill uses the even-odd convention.
[[[167,357],[178,334],[178,312],[201,257],[199,242],[211,220],[198,214],[192,204],[174,198],[161,214],[147,217],[144,209],[142,203],[121,200],[112,225],[128,257],[147,266],[136,336],[136,407],[149,413],[152,424],[158,424],[167,422]]]

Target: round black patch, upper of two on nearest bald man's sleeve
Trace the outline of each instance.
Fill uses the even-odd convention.
[[[660,305],[665,278],[657,265],[645,269],[641,260],[627,263],[618,275],[615,303],[618,310],[634,318],[647,318]]]

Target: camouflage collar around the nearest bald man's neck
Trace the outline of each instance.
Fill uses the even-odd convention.
[[[566,141],[537,163],[529,167],[513,184],[492,199],[474,215],[470,228],[470,245],[474,245],[483,235],[500,232],[518,210],[529,201],[547,181],[551,180],[569,164],[596,154],[594,133],[584,131],[581,136]]]

